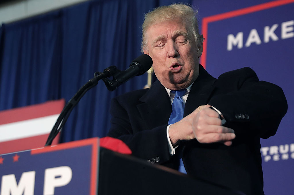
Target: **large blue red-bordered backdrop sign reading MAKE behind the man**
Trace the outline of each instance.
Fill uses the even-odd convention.
[[[265,194],[294,194],[293,10],[294,0],[277,0],[205,17],[201,22],[206,40],[200,63],[208,73],[217,78],[248,66],[260,80],[280,86],[287,98],[288,112],[276,135],[261,139]]]

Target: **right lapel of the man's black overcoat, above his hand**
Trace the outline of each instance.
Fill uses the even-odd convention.
[[[188,95],[184,117],[196,110],[201,105],[206,105],[211,93],[213,92],[216,78],[213,78],[207,71],[199,65],[199,76],[194,81],[191,91]]]

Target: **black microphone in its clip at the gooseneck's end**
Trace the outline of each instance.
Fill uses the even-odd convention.
[[[152,66],[152,59],[147,54],[142,54],[141,56],[134,59],[130,67],[126,69],[125,71],[117,71],[114,73],[113,80],[109,81],[109,79],[103,79],[104,83],[106,84],[108,90],[113,91],[115,90],[119,85],[125,83],[130,78],[133,78],[134,76],[140,76],[144,74],[146,71],[148,71]],[[109,68],[108,68],[109,69]],[[108,71],[105,69],[104,71]]]

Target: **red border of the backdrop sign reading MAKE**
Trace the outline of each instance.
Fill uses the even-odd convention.
[[[273,8],[273,7],[278,7],[278,6],[290,4],[293,2],[294,2],[294,0],[270,1],[268,3],[259,4],[259,5],[255,5],[255,6],[251,6],[251,7],[247,7],[247,8],[242,8],[242,9],[238,9],[238,10],[234,10],[234,11],[229,11],[229,12],[225,12],[225,13],[221,13],[221,14],[217,14],[217,15],[208,16],[208,17],[203,18],[202,19],[202,34],[206,40],[203,42],[203,53],[202,53],[202,57],[200,59],[200,64],[204,68],[206,68],[208,23],[219,21],[219,20],[224,20],[224,19],[228,19],[228,18],[232,18],[232,17],[236,17],[236,16],[241,16],[241,15],[245,15],[248,13],[253,13],[253,12],[257,12],[257,11],[261,11],[261,10],[265,10],[265,9],[269,9],[269,8]]]

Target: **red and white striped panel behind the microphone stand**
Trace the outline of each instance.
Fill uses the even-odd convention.
[[[43,147],[64,105],[61,99],[0,111],[0,154]]]

